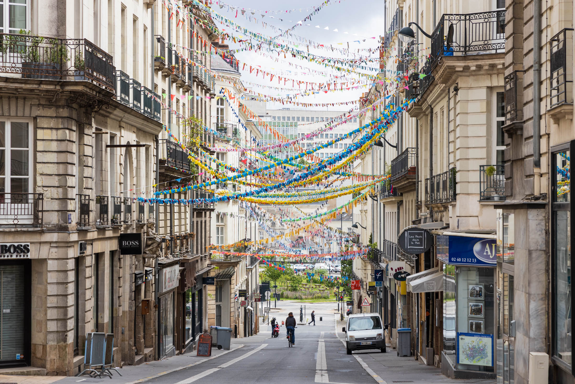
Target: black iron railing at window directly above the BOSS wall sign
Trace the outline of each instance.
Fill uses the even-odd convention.
[[[44,193],[0,192],[0,227],[41,227]]]

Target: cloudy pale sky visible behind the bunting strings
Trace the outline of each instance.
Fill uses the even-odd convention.
[[[300,9],[302,8],[301,12],[295,11],[291,13],[267,13],[265,17],[261,17],[261,12],[256,12],[254,16],[251,15],[250,11],[247,11],[245,14],[256,18],[258,21],[257,23],[253,20],[247,20],[246,17],[241,16],[241,12],[237,12],[236,17],[236,10],[229,9],[228,6],[224,6],[220,8],[219,5],[216,5],[216,0],[212,0],[212,8],[224,17],[229,18],[230,20],[236,22],[243,28],[247,28],[250,31],[262,33],[265,36],[276,36],[278,34],[277,31],[271,28],[270,25],[277,26],[281,29],[287,29],[292,27],[296,24],[297,21],[302,20],[305,16],[307,16],[311,10],[305,10],[305,7],[313,7],[319,5],[321,1],[319,0],[293,0],[293,1],[263,1],[263,0],[224,0],[223,3],[229,6],[238,7],[239,9],[245,7],[254,9],[254,10],[285,10],[285,9]],[[365,0],[362,2],[357,2],[355,0],[333,0],[329,2],[329,5],[324,6],[320,12],[312,16],[311,20],[305,21],[304,25],[298,26],[294,29],[293,33],[295,35],[305,37],[306,39],[316,41],[319,44],[329,45],[331,44],[334,48],[347,48],[347,44],[349,42],[350,51],[355,52],[357,54],[357,48],[375,48],[378,45],[377,37],[381,35],[384,31],[384,14],[383,14],[383,2],[377,0]],[[273,17],[272,17],[273,16]],[[283,21],[280,21],[279,18],[282,18]],[[262,25],[262,21],[266,22],[267,28],[264,28]],[[305,24],[310,24],[309,26]],[[319,25],[320,28],[316,28],[316,25]],[[240,36],[241,33],[234,31],[232,28],[220,25],[221,28],[225,29],[226,31],[233,31],[233,35]],[[325,29],[327,27],[328,29]],[[338,32],[334,32],[337,29]],[[344,33],[347,32],[347,33]],[[370,37],[376,37],[376,39],[370,39]],[[296,40],[295,37],[288,37],[289,40]],[[365,39],[365,41],[363,41]],[[354,40],[359,40],[359,43],[354,42]],[[256,42],[255,39],[252,40],[254,43]],[[281,42],[278,40],[278,42]],[[232,41],[228,42],[231,49],[236,48],[243,48],[243,44],[235,44]],[[339,45],[338,43],[343,43]],[[298,50],[306,50],[305,43],[297,43],[299,44]],[[293,45],[292,45],[293,46]],[[328,56],[328,57],[337,57],[337,58],[353,58],[354,56],[346,56],[340,52],[332,52],[328,50],[316,50],[310,47],[310,53],[321,55],[321,56]],[[293,94],[297,93],[297,90],[286,90],[286,89],[273,89],[273,88],[262,88],[254,86],[254,84],[266,85],[266,86],[273,86],[273,87],[283,87],[283,81],[278,84],[276,78],[273,81],[269,80],[269,77],[265,79],[262,78],[260,74],[259,77],[255,77],[254,73],[250,74],[248,71],[248,66],[256,67],[260,66],[260,69],[269,71],[271,73],[279,74],[286,78],[293,78],[293,79],[300,79],[304,81],[310,82],[326,82],[330,74],[334,75],[341,75],[339,71],[326,68],[319,64],[315,64],[312,62],[307,62],[301,60],[299,58],[292,58],[290,55],[283,58],[283,53],[278,56],[277,52],[268,52],[264,50],[264,54],[258,54],[256,52],[250,51],[243,51],[238,52],[236,54],[236,58],[240,60],[240,69],[243,66],[243,63],[246,63],[246,70],[242,71],[242,81],[244,86],[252,87],[254,92],[269,94],[269,95],[285,95],[285,94]],[[367,52],[361,52],[362,55],[369,55]],[[274,60],[270,56],[274,58],[279,58],[282,61]],[[371,57],[377,57],[377,53],[371,54]],[[290,62],[293,64],[298,64],[304,67],[307,67],[312,70],[321,71],[320,73],[313,73],[313,74],[302,74],[302,72],[308,72],[306,70],[302,70],[293,66],[290,66],[288,63]],[[371,67],[377,67],[377,63],[370,63]],[[288,73],[287,71],[292,71]],[[364,71],[369,72],[369,71]],[[375,74],[375,72],[371,72]],[[363,83],[366,83],[364,80]],[[292,82],[289,81],[286,83],[286,87],[292,88]],[[297,85],[296,85],[297,88]],[[298,97],[297,101],[300,102],[338,102],[338,101],[350,101],[350,100],[357,100],[362,92],[366,92],[369,89],[368,86],[364,86],[362,88],[356,90],[349,90],[349,91],[338,91],[338,92],[328,92],[328,93],[319,93],[309,97]],[[268,108],[301,108],[294,105],[286,104],[282,105],[281,103],[274,103],[268,104]],[[341,111],[351,107],[345,106],[336,106],[336,107],[328,107],[329,110],[332,111]],[[313,108],[313,109],[322,109],[325,110],[326,108]]]

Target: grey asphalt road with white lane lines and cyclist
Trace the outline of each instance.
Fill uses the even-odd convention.
[[[281,310],[272,312],[280,322],[290,310],[299,313],[298,304],[282,302],[282,306]],[[333,303],[315,305],[317,325],[298,325],[296,344],[292,348],[287,347],[285,327],[281,327],[277,338],[243,339],[243,348],[147,383],[375,383],[353,356],[346,355],[344,345],[337,339],[333,307]],[[309,305],[307,312],[309,317]],[[260,336],[266,333],[270,334],[271,328],[262,326]]]

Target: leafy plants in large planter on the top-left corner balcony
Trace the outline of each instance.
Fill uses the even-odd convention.
[[[20,30],[20,35],[30,35],[22,43],[22,78],[59,79],[62,65],[68,61],[68,47],[60,39],[33,36],[30,31]]]

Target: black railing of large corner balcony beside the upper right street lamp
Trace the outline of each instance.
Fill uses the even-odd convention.
[[[453,40],[446,41],[446,36]],[[431,55],[420,73],[420,94],[433,81],[431,72],[442,56],[466,56],[505,52],[505,10],[444,14],[431,34]]]

